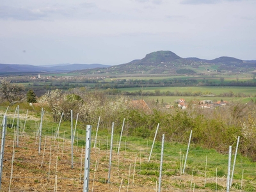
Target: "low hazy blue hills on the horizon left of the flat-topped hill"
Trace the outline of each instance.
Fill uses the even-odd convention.
[[[102,64],[60,64],[60,65],[20,65],[20,64],[1,64],[0,74],[26,74],[26,73],[45,73],[45,72],[70,72],[72,70],[82,70],[86,68],[104,68],[110,65]]]

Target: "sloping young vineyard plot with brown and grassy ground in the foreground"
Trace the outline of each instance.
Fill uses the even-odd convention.
[[[85,127],[77,129],[72,150],[70,135],[63,129],[56,134],[57,128],[43,123],[46,131],[40,139],[40,119],[26,124],[24,118],[19,119],[17,145],[16,120],[7,122],[2,191],[83,191]],[[112,143],[109,127],[99,131],[95,143],[96,127],[92,127],[89,191],[158,191],[161,142],[153,146],[153,140],[126,136],[120,140],[121,136],[114,134]],[[164,143],[161,191],[225,191],[228,155],[191,145],[184,168],[186,151],[186,145]],[[254,191],[255,175],[255,163],[238,155],[231,191]]]

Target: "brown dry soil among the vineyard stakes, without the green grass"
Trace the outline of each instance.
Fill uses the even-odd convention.
[[[81,162],[84,161],[84,150],[82,147],[74,146],[72,168],[70,140],[54,141],[54,138],[43,137],[40,154],[38,154],[38,141],[39,139],[35,136],[23,134],[19,136],[19,146],[15,147],[15,153],[13,153],[13,136],[10,133],[6,135],[2,191],[9,191],[9,188],[10,191],[83,191],[84,164]],[[117,153],[113,152],[111,177],[110,182],[107,182],[109,150],[91,149],[89,191],[158,191],[158,177],[141,175],[138,170],[139,157],[126,153],[125,156],[120,155],[118,161]],[[136,169],[134,169],[135,161],[137,161]],[[147,160],[140,159],[140,161]],[[216,179],[207,178],[207,182],[214,183]],[[221,186],[225,186],[225,182],[225,178],[218,178],[218,184]],[[196,183],[196,186],[204,186],[204,178],[191,178],[191,175],[187,174],[170,177],[164,175],[161,191],[212,191],[207,188],[193,189],[193,183]]]

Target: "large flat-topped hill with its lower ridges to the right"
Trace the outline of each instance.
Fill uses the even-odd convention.
[[[222,56],[214,60],[181,58],[172,51],[151,52],[141,60],[108,68],[79,70],[81,74],[201,74],[209,72],[250,72],[256,63]]]

